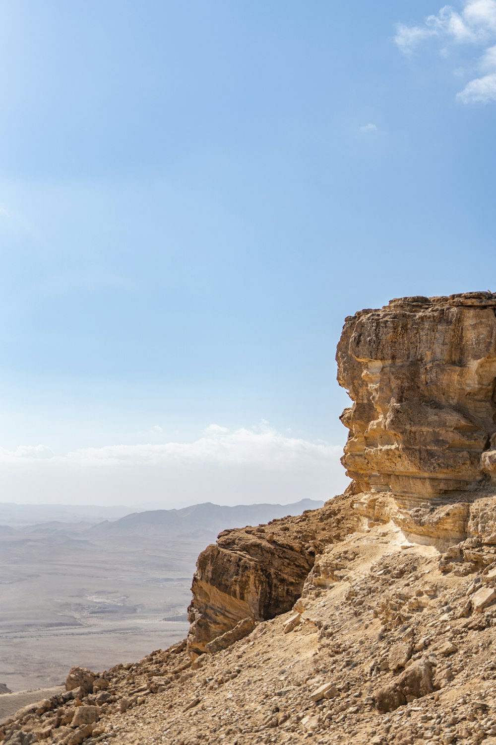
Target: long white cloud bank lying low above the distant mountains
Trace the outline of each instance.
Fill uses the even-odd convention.
[[[183,507],[328,499],[347,486],[342,448],[282,434],[263,423],[210,425],[190,443],[80,448],[0,448],[4,499],[25,503]],[[83,502],[82,502],[83,501]]]

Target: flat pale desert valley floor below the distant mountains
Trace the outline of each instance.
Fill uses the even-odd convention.
[[[1,536],[0,682],[58,685],[72,664],[100,670],[184,638],[204,545]]]

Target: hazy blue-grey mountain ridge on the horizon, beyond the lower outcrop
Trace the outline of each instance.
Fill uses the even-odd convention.
[[[193,504],[181,510],[146,510],[109,522],[100,522],[85,531],[91,538],[113,536],[164,536],[188,538],[220,533],[231,527],[258,525],[270,520],[316,510],[323,501],[302,499],[294,504],[237,504],[222,506],[212,502]]]

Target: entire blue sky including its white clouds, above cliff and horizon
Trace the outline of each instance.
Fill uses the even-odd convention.
[[[496,0],[0,0],[2,501],[347,485],[344,318],[496,290]]]

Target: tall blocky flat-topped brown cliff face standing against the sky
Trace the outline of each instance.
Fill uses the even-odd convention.
[[[496,475],[496,295],[391,300],[348,317],[342,463],[358,492],[435,504]]]

